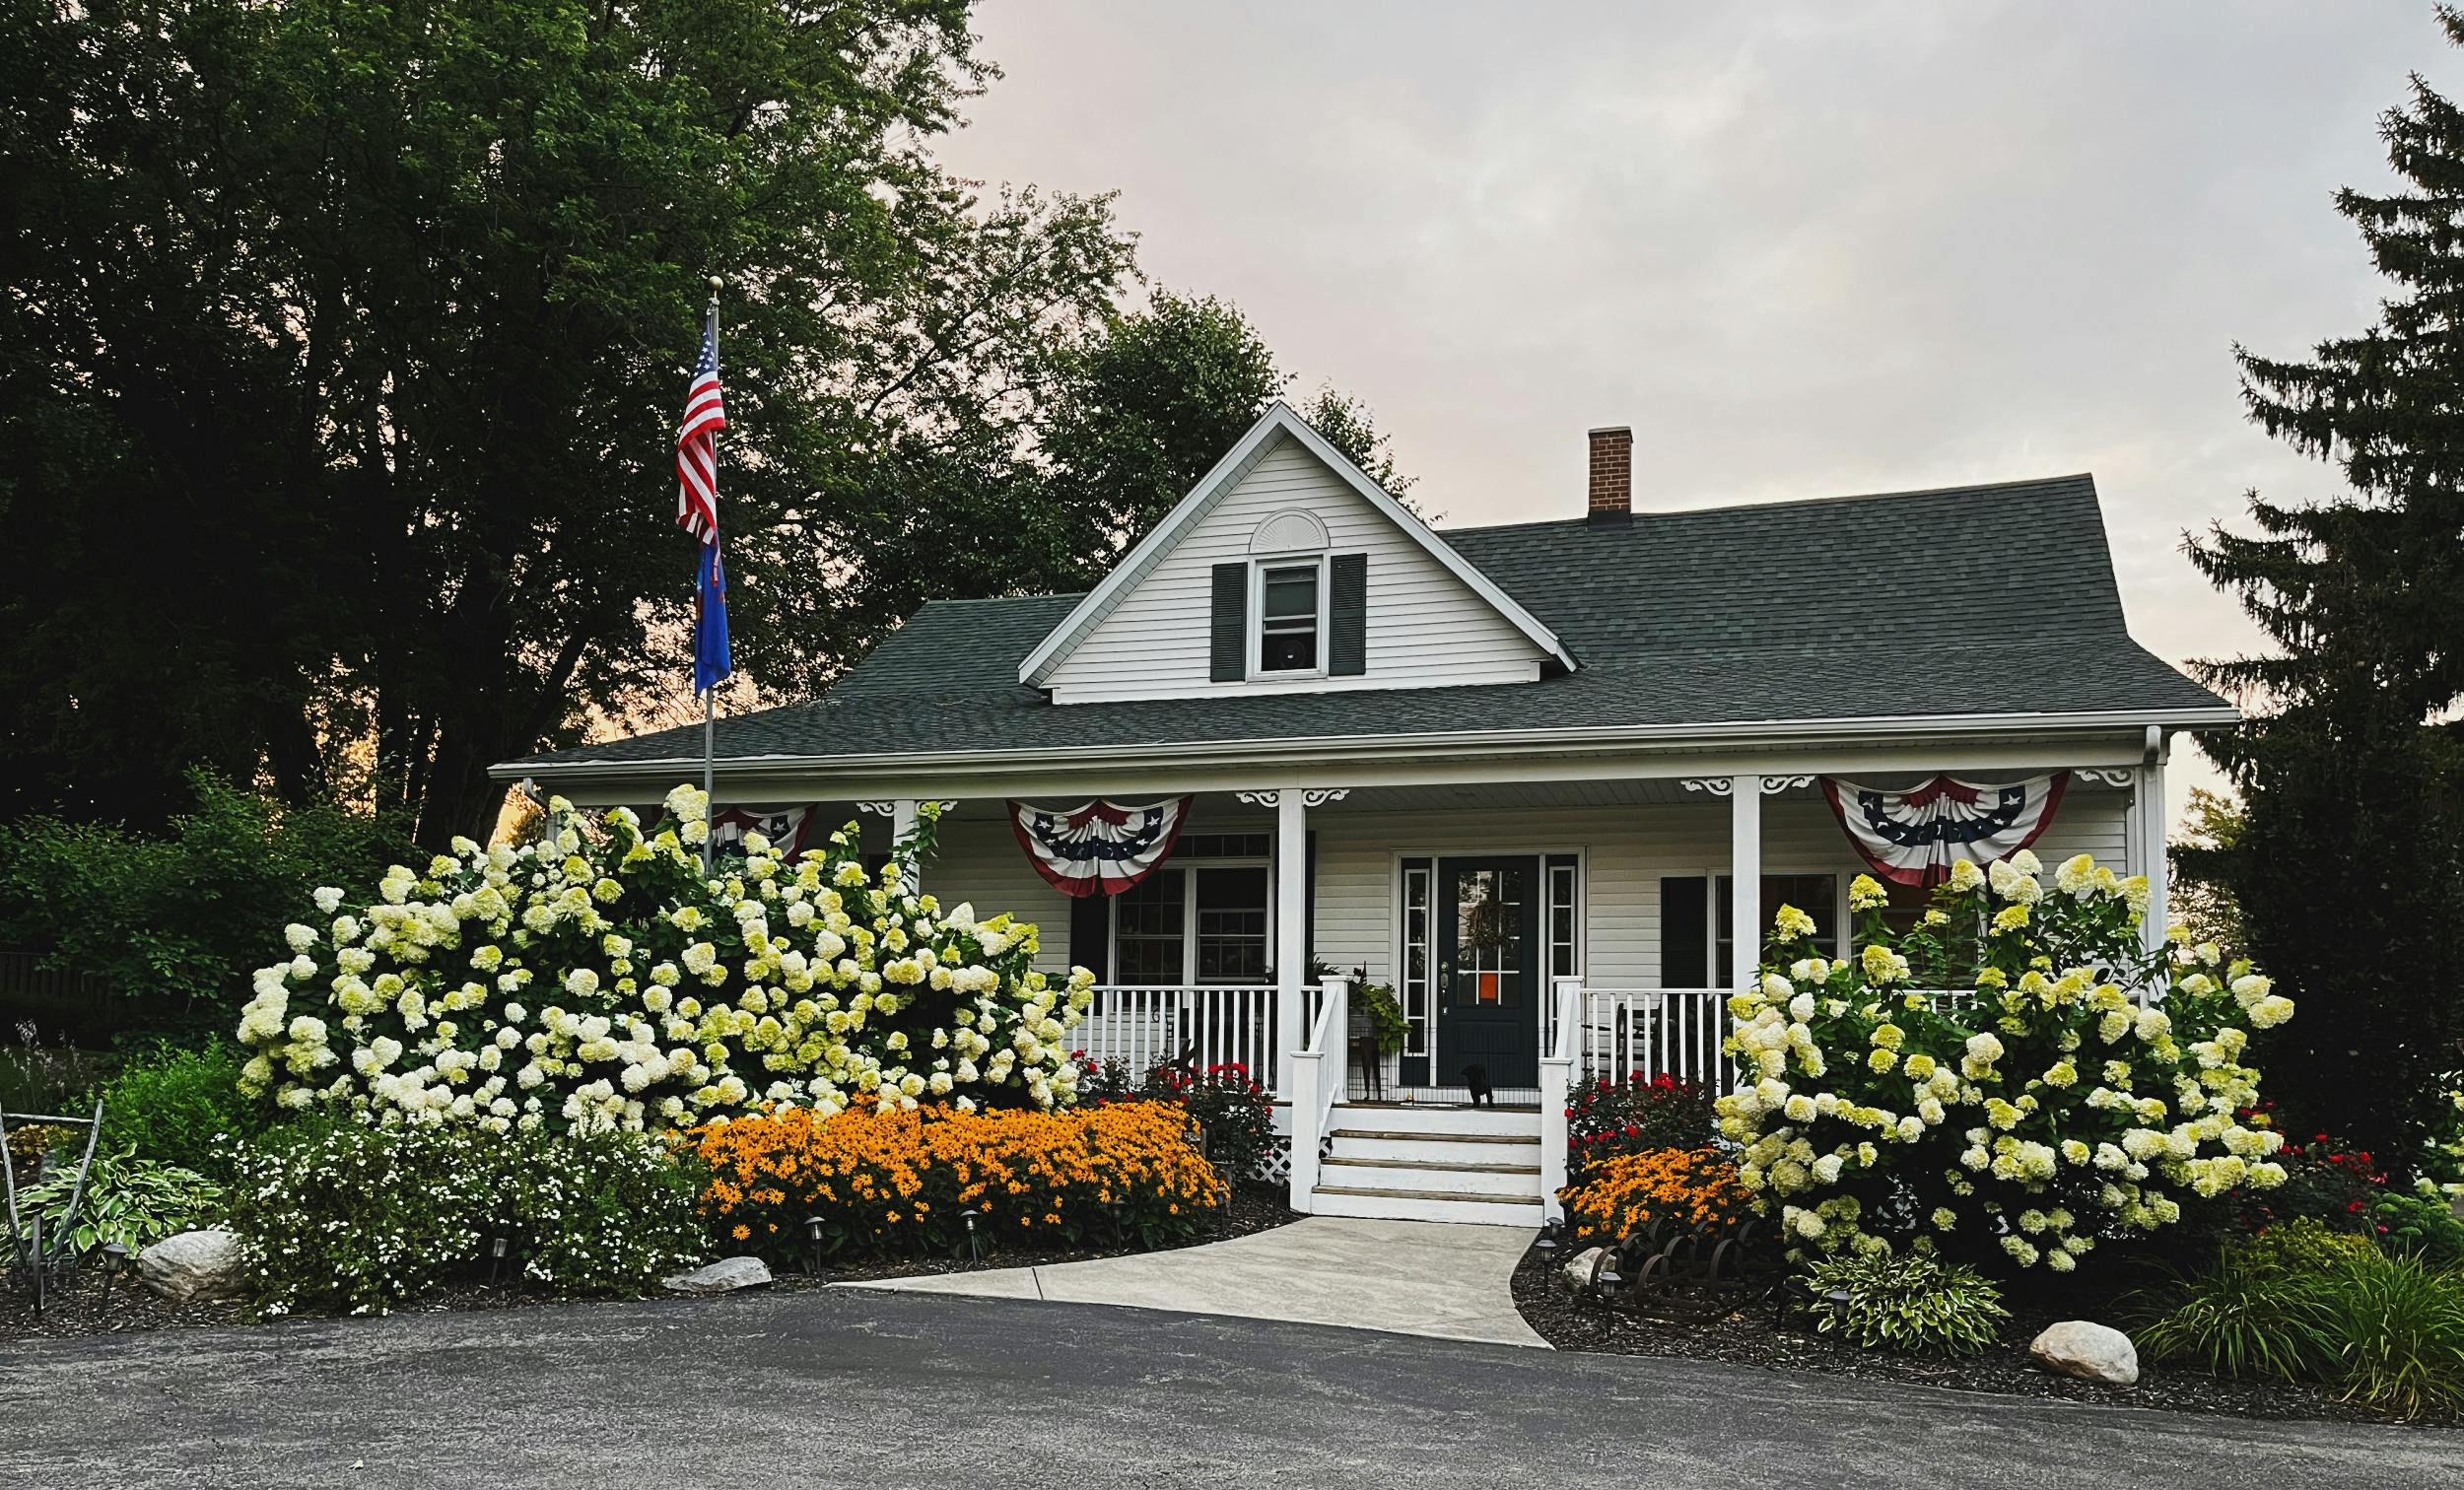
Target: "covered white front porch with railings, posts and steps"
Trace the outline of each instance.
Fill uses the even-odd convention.
[[[978,776],[963,793],[917,783],[808,798],[801,830],[853,820],[865,850],[887,855],[924,803],[941,803],[924,887],[944,904],[1035,921],[1047,973],[1096,973],[1072,1044],[1129,1079],[1163,1061],[1244,1066],[1291,1133],[1296,1207],[1350,1204],[1338,1192],[1355,1187],[1340,1182],[1363,1177],[1372,1199],[1387,1197],[1350,1214],[1414,1214],[1392,1197],[1456,1194],[1486,1197],[1496,1219],[1488,1199],[1503,1185],[1513,1214],[1528,1207],[1538,1222],[1562,1175],[1567,1084],[1631,1071],[1722,1081],[1725,990],[1752,973],[1779,904],[1853,953],[1848,884],[1868,862],[1826,778],[1892,793],[1944,773],[1981,786],[2057,778],[2035,852],[2089,852],[2149,874],[2151,936],[2163,926],[2156,739],[2136,759],[2099,741],[1858,751],[1749,771],[1582,766],[1528,761],[1515,778],[1397,778],[1407,773],[1387,766],[1326,786],[1037,771]],[[717,810],[781,813],[784,795],[771,783],[729,791],[722,776]],[[1087,800],[1183,803],[1168,850],[1116,894],[1064,894],[1020,828],[1020,805]],[[1740,884],[1754,892],[1740,896]],[[1895,889],[1887,914],[1922,904],[1922,892]],[[1387,1039],[1370,997],[1400,1012]],[[1444,1116],[1473,1101],[1496,1116]]]

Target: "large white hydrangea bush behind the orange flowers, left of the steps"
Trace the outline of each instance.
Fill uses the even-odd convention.
[[[1077,1101],[1094,975],[1035,970],[1035,926],[919,894],[917,842],[870,874],[853,830],[798,862],[749,835],[702,874],[707,798],[646,835],[552,798],[532,845],[453,840],[256,973],[249,1093],[377,1123],[665,1128],[761,1103]]]

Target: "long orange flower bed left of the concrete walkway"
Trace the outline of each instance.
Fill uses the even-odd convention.
[[[710,1165],[702,1214],[722,1249],[808,1258],[961,1254],[968,1212],[991,1249],[1168,1246],[1230,1187],[1180,1108],[1067,1113],[776,1108],[683,1135]]]

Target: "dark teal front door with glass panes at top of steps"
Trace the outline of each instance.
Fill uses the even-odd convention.
[[[1540,860],[1437,862],[1437,1086],[1540,1086]]]

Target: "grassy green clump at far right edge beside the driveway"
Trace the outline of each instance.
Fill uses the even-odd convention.
[[[2464,1416],[2464,1273],[2373,1256],[2328,1276],[2338,1384],[2400,1419]]]

